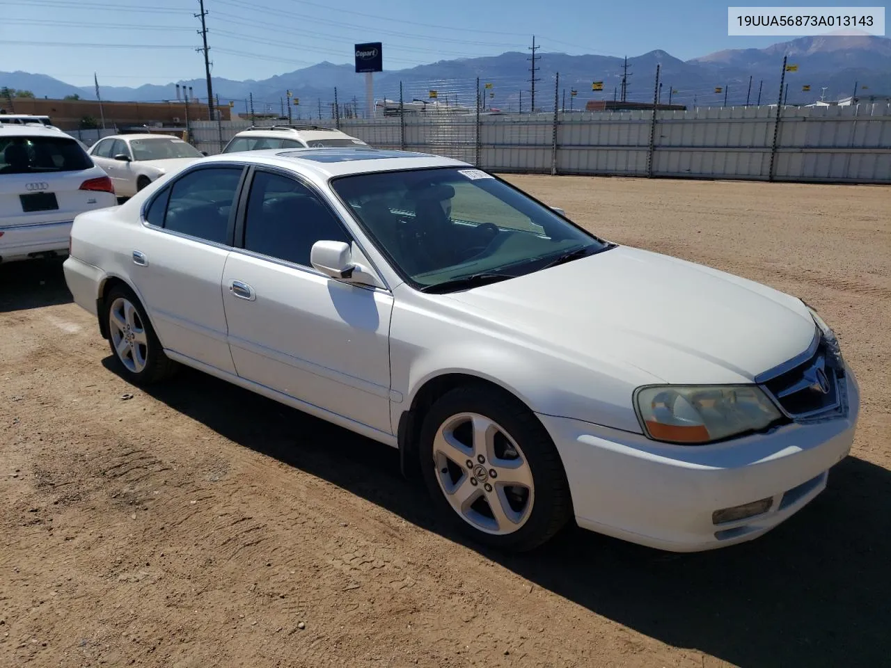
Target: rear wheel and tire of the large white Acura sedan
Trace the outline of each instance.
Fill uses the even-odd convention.
[[[176,372],[176,362],[164,354],[133,290],[124,285],[110,289],[102,317],[109,327],[111,354],[129,382],[139,386],[151,385]]]

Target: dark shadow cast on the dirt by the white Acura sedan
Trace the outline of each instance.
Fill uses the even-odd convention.
[[[103,364],[118,372],[113,358]],[[849,457],[755,542],[691,555],[568,527],[505,555],[465,541],[399,473],[393,448],[184,369],[150,394],[236,444],[461,542],[535,585],[678,648],[740,666],[879,666],[891,656],[891,472]],[[249,415],[250,420],[242,416]]]

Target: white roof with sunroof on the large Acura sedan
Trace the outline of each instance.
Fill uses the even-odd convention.
[[[324,149],[265,149],[262,151],[217,153],[201,159],[200,162],[208,164],[232,162],[233,160],[252,165],[283,167],[321,179],[425,167],[473,167],[462,160],[430,155],[429,153],[389,151],[366,146]]]

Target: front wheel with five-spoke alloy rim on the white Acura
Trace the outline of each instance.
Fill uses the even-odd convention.
[[[471,449],[475,430],[489,437]],[[440,397],[421,424],[419,456],[437,511],[476,542],[533,550],[572,517],[551,437],[526,406],[491,388],[459,387]]]

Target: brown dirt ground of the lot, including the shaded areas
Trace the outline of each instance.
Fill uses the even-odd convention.
[[[0,265],[0,665],[888,665],[891,189],[510,178],[815,306],[862,385],[826,492],[714,552],[490,553],[395,451],[198,372],[130,387],[59,263]]]

